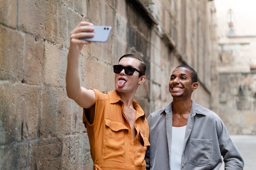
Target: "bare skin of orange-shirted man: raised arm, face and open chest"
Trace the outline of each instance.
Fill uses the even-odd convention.
[[[86,21],[80,22],[70,33],[70,49],[67,55],[66,90],[69,98],[73,99],[82,108],[89,110],[89,114],[87,114],[86,117],[92,124],[94,122],[95,93],[92,89],[86,89],[81,86],[79,73],[80,51],[84,45],[91,43],[90,41],[83,41],[79,38],[94,36],[94,33],[90,33],[90,31],[93,31],[93,28],[83,27],[85,25],[90,26],[92,23]],[[121,59],[118,64],[130,66],[139,70],[140,61],[138,59],[125,57]],[[118,87],[117,85],[120,77],[127,81],[124,87]],[[132,100],[135,96],[137,87],[139,87],[141,83],[144,83],[145,80],[146,76],[139,77],[139,73],[136,71],[132,76],[126,75],[124,70],[122,70],[120,74],[115,74],[115,86],[120,94],[121,100],[124,101],[124,113],[132,129],[133,138],[135,138],[136,135],[134,127],[136,110],[132,105]]]

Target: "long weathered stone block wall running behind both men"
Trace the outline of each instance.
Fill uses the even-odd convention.
[[[145,113],[172,101],[180,64],[199,76],[193,99],[216,110],[215,7],[211,0],[0,0],[0,169],[92,169],[82,109],[67,98],[69,33],[81,20],[112,26],[106,43],[81,51],[84,87],[115,88],[112,65],[146,63],[135,100]]]

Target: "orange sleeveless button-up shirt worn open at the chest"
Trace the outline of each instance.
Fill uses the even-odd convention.
[[[96,94],[94,122],[86,119],[84,109],[83,123],[87,129],[94,170],[145,170],[144,160],[148,142],[149,128],[145,113],[133,101],[136,109],[136,137],[132,137],[130,124],[124,114],[124,102],[118,92],[112,90]]]

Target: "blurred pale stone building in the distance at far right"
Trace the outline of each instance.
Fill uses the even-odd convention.
[[[231,134],[256,135],[256,2],[216,0],[219,116]]]

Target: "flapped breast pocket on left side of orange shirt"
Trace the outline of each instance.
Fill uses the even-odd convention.
[[[105,118],[105,135],[103,139],[104,159],[111,160],[125,155],[125,133],[128,127],[122,122]]]

